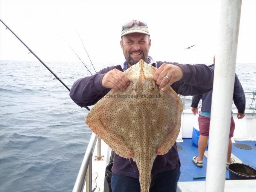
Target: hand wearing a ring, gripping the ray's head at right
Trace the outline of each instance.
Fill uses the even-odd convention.
[[[168,78],[167,78],[167,77]],[[179,66],[163,63],[154,74],[154,80],[161,91],[165,91],[174,82],[180,80],[183,72]]]

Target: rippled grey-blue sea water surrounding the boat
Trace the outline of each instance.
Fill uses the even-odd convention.
[[[79,62],[46,65],[69,88],[90,75]],[[244,91],[256,91],[256,64],[237,64],[236,73]],[[71,191],[91,136],[87,113],[40,62],[0,61],[0,191]]]

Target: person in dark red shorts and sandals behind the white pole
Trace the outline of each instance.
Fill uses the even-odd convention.
[[[214,70],[214,62],[215,62],[215,57],[213,58],[213,64],[209,66],[213,70]],[[201,108],[200,115],[198,117],[198,124],[199,124],[199,130],[200,130],[200,136],[198,139],[198,156],[193,157],[192,160],[198,167],[203,167],[204,151],[206,150],[206,147],[207,147],[207,140],[208,140],[209,128],[210,128],[212,91],[209,91],[208,93],[203,94],[203,95],[193,96],[191,110],[194,115],[196,115],[198,113],[197,106],[198,106],[200,99],[202,99],[202,108]],[[238,109],[237,118],[242,119],[245,116],[245,114],[244,114],[245,95],[244,95],[244,90],[242,88],[242,85],[241,85],[241,83],[238,79],[238,76],[236,74],[235,74],[233,101],[234,101],[234,104],[236,105],[236,108]],[[235,122],[233,119],[233,114],[231,113],[227,165],[229,165],[230,163],[234,163],[234,160],[231,159],[231,152],[232,152],[231,137],[233,137],[234,130],[235,130]]]

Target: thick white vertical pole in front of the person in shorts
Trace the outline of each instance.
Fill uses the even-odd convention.
[[[216,51],[206,192],[223,192],[226,178],[241,0],[224,0],[220,10],[219,49]]]

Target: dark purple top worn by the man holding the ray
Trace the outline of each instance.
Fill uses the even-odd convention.
[[[158,68],[163,63],[175,64],[181,67],[183,77],[174,82],[171,87],[177,94],[181,95],[198,95],[204,94],[212,90],[213,85],[213,70],[204,64],[178,64],[172,62],[157,61],[151,65]],[[120,65],[106,67],[95,75],[78,79],[70,90],[70,98],[80,107],[96,104],[101,98],[110,91],[110,88],[102,86],[103,76],[112,69],[118,69],[123,72]],[[170,149],[165,155],[157,155],[155,158],[152,174],[157,174],[163,171],[169,171],[180,167],[180,158],[178,156],[177,146]],[[112,172],[119,175],[139,178],[139,171],[135,162],[131,159],[114,155],[114,163]]]

